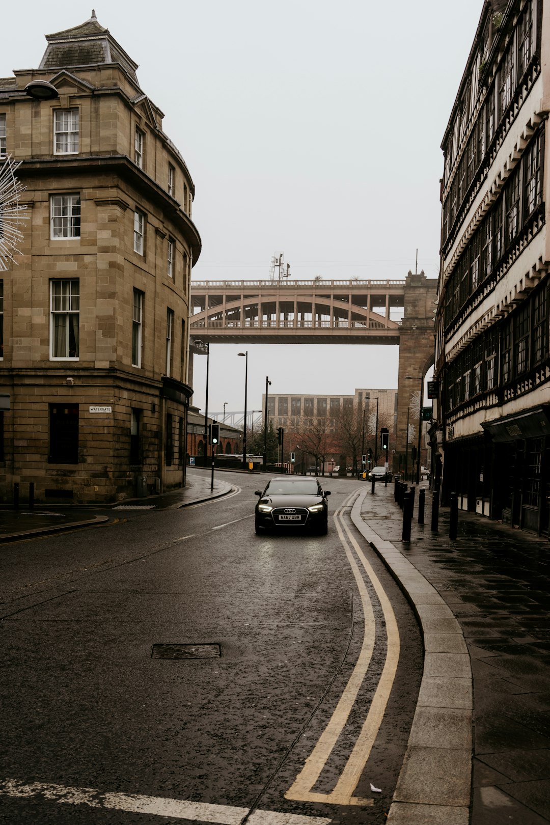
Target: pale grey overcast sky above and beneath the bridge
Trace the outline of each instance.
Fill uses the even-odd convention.
[[[91,16],[195,181],[194,279],[436,278],[440,150],[482,0],[101,0],[2,8],[0,77],[37,67],[45,34]],[[9,36],[7,36],[9,32]],[[242,410],[242,346],[213,345],[209,410]],[[397,387],[397,347],[248,347],[248,408],[277,393]],[[204,407],[204,357],[194,403]]]

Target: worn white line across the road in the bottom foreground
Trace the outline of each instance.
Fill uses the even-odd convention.
[[[110,794],[93,788],[71,788],[46,782],[32,782],[25,785],[16,780],[0,782],[0,795],[20,799],[43,796],[49,802],[83,804],[91,808],[113,808],[118,811],[147,813],[157,817],[200,819],[205,823],[220,823],[220,825],[239,825],[249,811],[249,808],[236,808],[233,805],[187,802],[185,799],[166,799],[162,796],[144,796],[143,794]],[[331,819],[257,810],[252,813],[248,822],[251,825],[328,825]]]

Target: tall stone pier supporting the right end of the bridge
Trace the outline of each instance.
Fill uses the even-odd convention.
[[[405,314],[399,332],[399,373],[397,378],[397,431],[393,472],[405,468],[407,451],[407,408],[409,424],[415,427],[414,444],[418,446],[419,407],[422,404],[421,388],[425,374],[434,364],[434,316],[437,295],[436,279],[409,272],[405,281]],[[423,397],[423,390],[422,390]],[[408,469],[411,470],[411,447],[408,446]],[[421,451],[421,464],[426,463],[426,453]]]

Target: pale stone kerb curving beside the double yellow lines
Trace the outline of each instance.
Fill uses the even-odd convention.
[[[468,825],[472,775],[472,667],[463,632],[440,593],[361,516],[351,520],[410,601],[424,640],[424,671],[388,825]]]

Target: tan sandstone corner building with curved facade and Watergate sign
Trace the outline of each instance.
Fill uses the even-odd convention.
[[[26,191],[0,271],[0,496],[93,502],[185,483],[194,185],[137,65],[95,16],[0,79],[0,165]],[[53,100],[33,100],[31,81]]]

